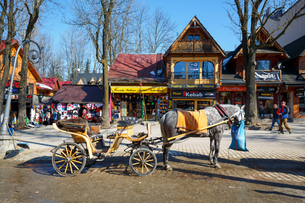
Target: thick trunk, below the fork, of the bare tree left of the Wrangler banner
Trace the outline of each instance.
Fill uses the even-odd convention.
[[[249,49],[249,63],[246,65],[246,125],[255,125],[257,119],[257,98],[255,89],[255,52],[253,48]]]

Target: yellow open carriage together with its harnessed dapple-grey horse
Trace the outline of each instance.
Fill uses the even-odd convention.
[[[233,106],[233,105],[230,105]],[[237,107],[237,106],[236,106]],[[207,108],[206,108],[207,109]],[[214,108],[213,108],[214,109]],[[222,109],[222,108],[221,108]],[[219,109],[217,109],[219,111]],[[226,109],[228,111],[228,109]],[[236,111],[235,111],[236,110]],[[171,126],[172,120],[175,116],[174,111],[170,116],[163,116],[160,121],[161,133],[163,137],[148,138],[150,135],[150,124],[147,125],[148,133],[133,134],[133,124],[119,123],[117,126],[117,133],[107,135],[107,138],[113,139],[113,142],[109,142],[109,146],[106,146],[104,137],[102,134],[89,135],[88,126],[79,123],[72,122],[57,122],[53,123],[53,127],[61,132],[70,133],[74,142],[63,142],[56,148],[52,149],[52,164],[54,169],[62,176],[75,176],[80,173],[85,166],[92,166],[98,159],[104,159],[113,156],[114,152],[118,149],[123,139],[131,141],[126,144],[127,148],[124,150],[125,154],[130,155],[129,166],[131,170],[138,176],[147,176],[151,174],[157,166],[157,158],[155,155],[161,150],[158,148],[159,144],[163,146],[163,163],[166,169],[171,170],[168,164],[168,151],[170,146],[177,142],[185,140],[189,137],[210,137],[211,139],[211,152],[209,160],[215,167],[220,168],[217,163],[217,155],[219,151],[219,142],[221,135],[224,131],[224,126],[221,124],[231,122],[233,119],[239,122],[243,119],[243,107],[235,108],[234,111],[230,111],[230,115],[223,109],[222,115],[215,115],[215,112],[211,112],[210,115],[206,112],[208,117],[208,123],[206,127],[192,130],[190,132],[177,131],[175,126]],[[214,124],[213,124],[214,123]],[[166,126],[167,125],[167,126]],[[219,126],[222,126],[219,128]],[[195,134],[202,130],[208,130],[206,134]],[[175,131],[173,133],[173,130]],[[220,132],[222,130],[222,132]],[[220,139],[218,139],[220,137]],[[214,142],[215,139],[215,142]],[[111,143],[111,144],[110,144]],[[215,151],[214,157],[213,151]],[[212,153],[212,155],[211,155]],[[216,156],[216,157],[215,157]]]

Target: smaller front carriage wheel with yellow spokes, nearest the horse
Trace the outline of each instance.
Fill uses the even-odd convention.
[[[148,176],[157,167],[156,155],[149,149],[137,149],[130,156],[129,166],[137,176]]]

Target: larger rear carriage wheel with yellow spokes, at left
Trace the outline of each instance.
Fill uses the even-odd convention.
[[[60,144],[52,155],[52,165],[62,176],[75,176],[84,169],[85,164],[86,156],[83,148],[72,142]]]

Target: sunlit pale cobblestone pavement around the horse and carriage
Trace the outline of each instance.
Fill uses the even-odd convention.
[[[246,146],[249,152],[229,150],[228,147],[231,144],[231,133],[230,130],[225,130],[222,140],[221,148],[218,155],[219,162],[222,165],[222,162],[229,163],[237,161],[253,161],[260,162],[262,160],[266,161],[268,159],[278,160],[282,162],[283,167],[285,167],[285,162],[301,162],[304,163],[305,160],[305,132],[303,128],[303,123],[289,123],[290,128],[292,129],[292,134],[289,134],[288,131],[284,130],[285,134],[278,134],[278,131],[268,131],[268,130],[246,130]],[[116,129],[105,130],[103,134],[106,135],[106,132],[115,132]],[[146,126],[135,125],[133,129],[134,133],[145,132]],[[152,134],[150,137],[160,137],[160,125],[151,127]],[[42,126],[38,129],[29,129],[23,131],[16,131],[22,142],[28,142],[30,144],[30,150],[25,150],[16,157],[7,160],[7,162],[12,161],[28,161],[37,162],[37,161],[46,161],[51,163],[50,150],[55,148],[57,145],[61,144],[63,141],[73,141],[70,134],[61,133],[53,129],[52,126]],[[106,136],[105,136],[106,137]],[[109,144],[109,139],[105,140],[106,144]],[[113,166],[113,162],[122,161],[120,157],[124,153],[126,148],[124,144],[129,143],[129,141],[124,140],[120,147],[118,148],[115,156],[106,158],[104,161],[98,161],[93,167],[101,168]],[[160,145],[160,148],[161,145]],[[174,144],[171,147],[169,152],[170,161],[177,160],[181,162],[181,158],[188,159],[199,159],[204,160],[205,162],[208,159],[208,154],[210,152],[210,139],[209,138],[190,138],[184,142]],[[159,166],[162,167],[162,152],[157,155]],[[230,160],[228,160],[230,158]],[[128,160],[125,158],[123,166],[128,165]],[[176,164],[176,163],[174,163]],[[178,164],[176,164],[179,167]],[[95,173],[97,169],[91,170],[88,168],[88,172]],[[54,169],[50,169],[51,171]],[[284,170],[284,171],[282,171]],[[304,171],[295,172],[295,173],[285,173],[285,169],[280,169],[280,173],[276,171],[264,172],[256,170],[255,173],[250,176],[242,176],[242,171],[227,171],[227,173],[232,176],[242,176],[243,178],[250,180],[290,180],[296,183],[302,182],[305,183]],[[181,172],[182,173],[182,172]],[[182,173],[183,174],[183,173]],[[153,173],[153,176],[158,176],[157,170]],[[171,173],[170,176],[180,177],[181,174],[178,174],[177,171]],[[187,175],[188,176],[188,175]],[[195,176],[198,176],[196,174]]]

